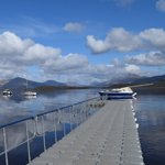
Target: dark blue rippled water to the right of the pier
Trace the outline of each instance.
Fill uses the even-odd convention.
[[[140,139],[146,165],[165,164],[165,96],[141,95],[135,101]]]

